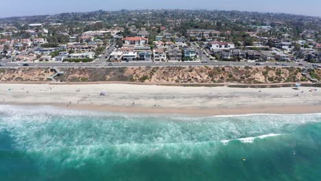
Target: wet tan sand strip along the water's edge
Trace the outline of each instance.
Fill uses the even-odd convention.
[[[280,105],[280,106],[248,106],[238,108],[146,108],[146,107],[121,107],[106,105],[86,105],[86,104],[36,104],[36,103],[15,103],[7,102],[0,105],[9,106],[53,106],[64,110],[84,110],[111,113],[128,114],[182,114],[192,117],[210,116],[235,116],[247,114],[317,114],[321,113],[321,105]]]

